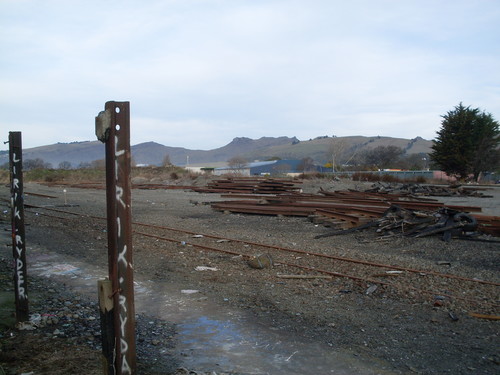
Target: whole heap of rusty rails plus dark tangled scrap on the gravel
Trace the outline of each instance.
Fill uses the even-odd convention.
[[[318,194],[305,194],[292,180],[221,181],[224,180],[217,181],[215,187],[196,190],[231,198],[212,203],[212,208],[232,213],[309,217],[335,229],[321,237],[367,228],[375,228],[381,236],[442,235],[447,241],[478,232],[500,236],[500,217],[477,215],[481,208],[476,206],[445,206],[427,197],[387,192],[320,190]]]

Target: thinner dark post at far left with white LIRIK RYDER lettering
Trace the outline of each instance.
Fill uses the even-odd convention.
[[[14,289],[18,323],[29,320],[22,154],[21,132],[9,132],[12,252],[14,255]]]

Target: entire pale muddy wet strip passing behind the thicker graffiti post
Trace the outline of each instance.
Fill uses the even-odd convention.
[[[107,270],[41,249],[30,250],[29,273],[57,278],[97,298]],[[135,281],[137,313],[176,324],[175,354],[197,371],[238,374],[391,374],[389,366],[304,340],[292,332],[172,283]]]

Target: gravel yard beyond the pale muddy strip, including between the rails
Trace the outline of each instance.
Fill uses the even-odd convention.
[[[319,186],[319,182],[313,181],[304,190],[317,192]],[[360,187],[347,182],[323,184],[325,189],[330,190],[346,186]],[[49,199],[28,195],[26,203],[49,205],[81,215],[105,216],[104,191],[68,189],[66,199],[69,206],[57,207],[65,203],[62,188],[28,184],[25,190],[59,197]],[[488,207],[488,214],[500,216],[496,207],[500,202],[499,190],[494,189],[494,198],[475,198],[472,204],[480,203]],[[6,188],[2,188],[1,196],[8,196]],[[304,218],[224,214],[212,210],[209,205],[218,200],[222,199],[217,194],[134,190],[133,221],[500,283],[498,243],[457,239],[445,243],[439,237],[379,241],[376,234],[369,230],[314,239],[329,229]],[[469,202],[465,198],[460,198],[460,201]],[[28,246],[50,247],[64,256],[87,262],[105,264],[107,261],[105,221],[85,216],[70,217],[42,209],[28,209],[26,218],[29,224]],[[3,219],[7,225],[5,214]],[[153,228],[138,227],[136,230],[166,237],[172,235]],[[385,361],[396,374],[495,374],[500,371],[499,321],[469,315],[471,312],[500,315],[498,286],[406,272],[377,278],[373,275],[385,270],[376,271],[340,261],[313,260],[307,255],[270,249],[263,251],[256,246],[234,242],[217,243],[214,239],[193,238],[192,235],[176,235],[175,239],[179,241],[166,242],[134,235],[134,266],[138,280],[189,283],[208,298],[251,311],[256,319],[278,330],[295,332],[297,337],[312,338],[325,345]],[[270,253],[275,266],[254,269],[242,257],[207,251],[190,246],[190,243],[218,246],[249,255]],[[2,257],[6,259],[6,254]],[[309,274],[282,265],[285,262],[328,267],[332,272],[375,278],[400,287],[378,284],[373,290],[370,289],[373,283],[340,277],[306,280],[279,278],[278,273]],[[199,272],[195,270],[197,266],[215,267],[218,271]],[[432,293],[421,293],[421,290]],[[473,299],[477,303],[449,298],[448,295]],[[74,300],[75,296],[62,294],[57,298]],[[45,308],[43,303],[39,306]],[[154,321],[154,317],[147,314],[141,319]],[[155,325],[167,327],[168,322]],[[53,328],[50,327],[52,333]],[[94,328],[85,331],[95,332]],[[166,336],[175,336],[170,328],[167,331]],[[42,332],[40,335],[43,336]],[[152,348],[154,345],[150,336],[153,335],[147,331],[140,334]],[[58,340],[65,340],[74,347],[96,348],[88,340],[71,341],[69,337]],[[170,340],[175,340],[175,337]],[[145,354],[141,352],[140,355]],[[151,369],[151,372],[144,373],[155,372]]]

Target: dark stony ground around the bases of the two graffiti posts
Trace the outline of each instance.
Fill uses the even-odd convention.
[[[102,374],[101,331],[96,302],[77,294],[53,278],[31,278],[31,321],[14,329],[14,290],[10,261],[0,259],[2,306],[0,315],[1,374]],[[154,317],[137,315],[138,371],[142,374],[172,373],[176,360],[165,355],[174,345],[175,327]],[[161,345],[160,345],[161,343]],[[162,357],[163,363],[156,363]]]

